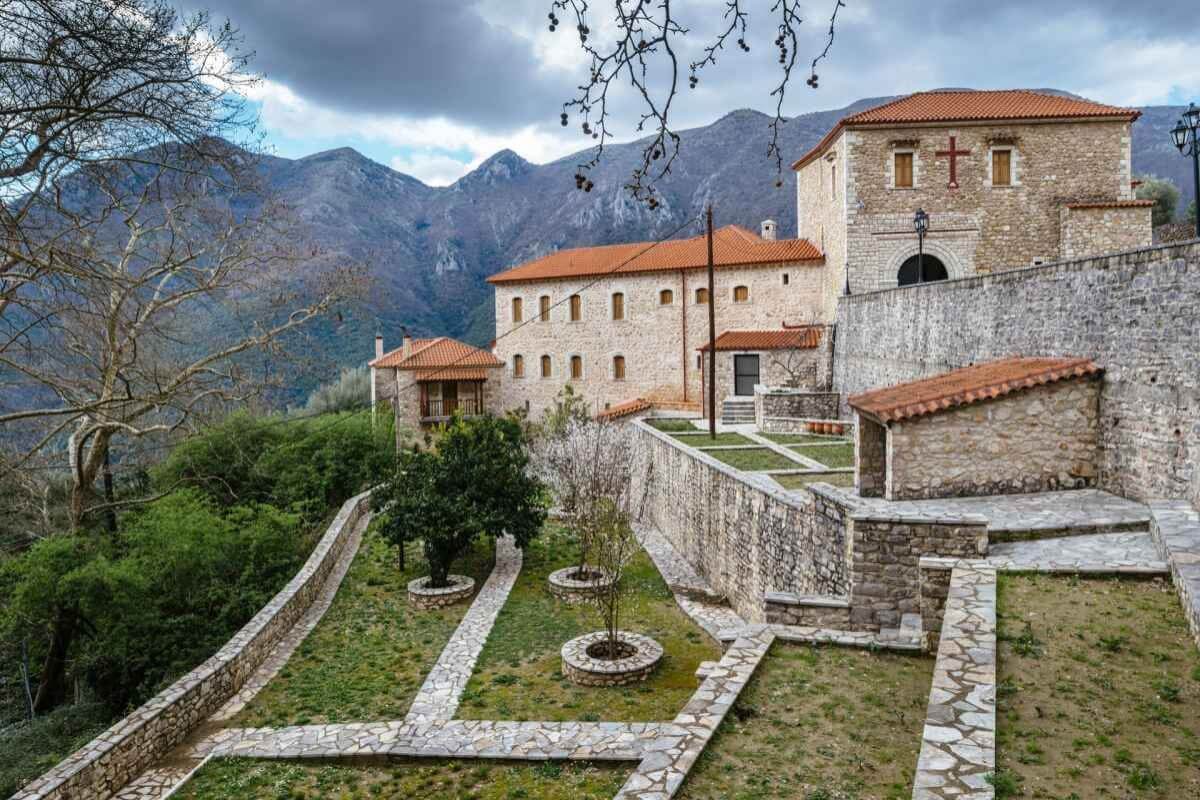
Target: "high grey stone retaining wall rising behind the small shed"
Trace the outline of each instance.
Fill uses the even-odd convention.
[[[1200,242],[842,297],[842,395],[1008,355],[1105,368],[1100,486],[1200,504]]]

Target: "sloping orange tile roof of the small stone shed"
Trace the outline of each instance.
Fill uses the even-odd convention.
[[[854,395],[851,408],[881,422],[936,414],[1044,384],[1103,372],[1090,359],[1001,359]]]

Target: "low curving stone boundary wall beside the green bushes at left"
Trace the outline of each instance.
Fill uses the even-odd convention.
[[[350,498],[305,565],[215,655],[60,762],[12,800],[103,800],[179,745],[233,697],[319,594],[366,509]]]

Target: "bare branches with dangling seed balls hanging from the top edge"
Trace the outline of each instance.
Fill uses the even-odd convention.
[[[774,158],[779,175],[775,185],[782,186],[784,157],[779,149],[779,128],[785,121],[784,98],[797,65],[797,31],[803,18],[799,0],[763,0],[763,5],[768,2],[768,13],[778,20],[772,44],[779,52],[780,79],[770,92],[775,98],[775,118],[770,125],[767,157]],[[552,31],[563,24],[559,13],[572,19],[580,47],[590,61],[587,82],[580,85],[575,97],[563,103],[559,115],[559,121],[568,126],[571,113],[575,113],[583,134],[596,142],[592,158],[578,166],[575,184],[583,191],[592,191],[593,184],[587,173],[600,163],[605,144],[612,136],[608,126],[610,91],[613,86],[628,84],[642,106],[636,130],[649,130],[650,137],[642,151],[642,163],[634,169],[625,188],[634,198],[654,209],[659,205],[654,185],[671,172],[671,164],[679,155],[679,134],[671,127],[671,112],[684,70],[680,54],[688,28],[680,24],[676,14],[677,4],[672,4],[672,0],[612,0],[616,38],[611,44],[596,44],[589,25],[592,5],[589,0],[553,0],[548,14]],[[745,5],[745,0],[726,0],[719,32],[704,43],[701,58],[686,65],[688,85],[691,89],[700,84],[706,68],[716,66],[718,55],[731,40],[738,49],[750,52],[750,42],[746,41],[749,12]],[[817,64],[833,47],[838,12],[845,5],[844,0],[833,0],[824,48],[812,59],[805,80],[812,89],[817,88],[818,82]]]

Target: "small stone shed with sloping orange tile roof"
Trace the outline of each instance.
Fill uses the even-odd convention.
[[[1096,486],[1103,371],[1010,357],[850,397],[856,487],[913,500]]]

